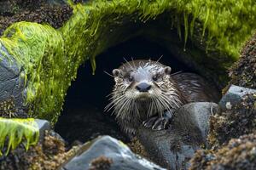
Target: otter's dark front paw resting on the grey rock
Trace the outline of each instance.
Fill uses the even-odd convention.
[[[173,114],[170,111],[165,111],[162,116],[151,116],[143,122],[144,127],[152,128],[153,130],[163,130],[169,127],[172,122]]]

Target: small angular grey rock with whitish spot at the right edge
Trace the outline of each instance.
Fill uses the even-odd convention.
[[[232,109],[233,105],[239,103],[242,97],[246,94],[256,93],[256,89],[242,88],[239,86],[231,85],[226,94],[220,99],[218,105],[223,110]]]

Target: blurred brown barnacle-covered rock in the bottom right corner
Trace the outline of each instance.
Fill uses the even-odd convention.
[[[190,170],[239,170],[256,168],[256,134],[251,133],[230,142],[218,151],[199,150],[191,160]]]

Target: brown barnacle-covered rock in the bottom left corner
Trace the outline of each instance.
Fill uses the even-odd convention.
[[[50,132],[45,133],[44,140],[26,151],[22,145],[10,151],[8,156],[0,156],[0,169],[9,170],[55,170],[70,156],[73,156],[78,147],[68,150],[63,141]]]

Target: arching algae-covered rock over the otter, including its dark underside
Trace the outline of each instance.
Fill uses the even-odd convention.
[[[143,34],[221,85],[256,28],[256,4],[250,0],[68,3],[73,16],[61,28],[19,22],[0,39],[7,49],[1,48],[0,58],[16,63],[24,82],[22,104],[30,116],[53,124],[79,65],[90,59],[94,72],[96,55],[119,42]]]

